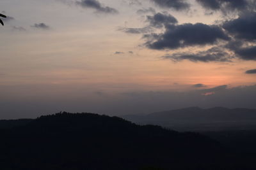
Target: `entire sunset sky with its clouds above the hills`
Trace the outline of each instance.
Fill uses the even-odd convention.
[[[1,0],[0,119],[255,108],[255,0]]]

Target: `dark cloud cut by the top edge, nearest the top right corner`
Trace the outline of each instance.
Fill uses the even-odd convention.
[[[196,0],[207,10],[221,10],[223,12],[246,10],[250,6],[249,0]]]

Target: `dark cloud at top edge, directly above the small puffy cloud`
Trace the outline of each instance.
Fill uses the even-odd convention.
[[[174,10],[188,10],[189,3],[184,0],[151,0],[162,8],[173,8]]]

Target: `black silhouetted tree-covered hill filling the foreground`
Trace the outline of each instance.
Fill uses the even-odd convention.
[[[251,169],[255,160],[200,134],[92,113],[42,116],[0,135],[6,170]]]

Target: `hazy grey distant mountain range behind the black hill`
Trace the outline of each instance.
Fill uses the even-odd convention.
[[[137,124],[154,124],[178,131],[216,131],[227,129],[256,129],[256,110],[246,108],[183,108],[148,115],[125,115]]]

